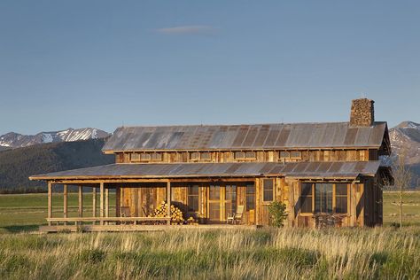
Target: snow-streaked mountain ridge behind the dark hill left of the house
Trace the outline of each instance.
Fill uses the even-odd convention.
[[[21,135],[9,132],[0,136],[0,148],[20,148],[33,144],[43,144],[51,142],[74,142],[96,138],[105,138],[110,134],[97,128],[67,128],[66,130],[40,132],[33,136]]]

